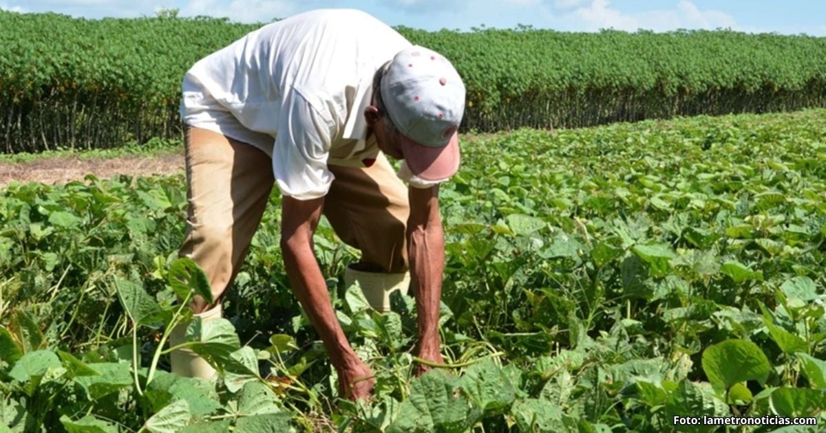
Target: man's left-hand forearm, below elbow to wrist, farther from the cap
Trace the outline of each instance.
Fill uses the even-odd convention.
[[[306,245],[303,242],[285,242],[282,252],[287,277],[301,307],[324,341],[333,365],[343,368],[345,364],[353,362],[356,355],[344,336],[339,319],[335,317],[324,276],[309,242]]]

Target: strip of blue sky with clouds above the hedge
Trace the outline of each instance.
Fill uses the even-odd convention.
[[[426,30],[525,24],[560,31],[724,27],[826,36],[822,0],[0,0],[0,9],[88,18],[153,16],[162,7],[178,8],[181,16],[227,16],[241,22],[267,22],[320,7],[355,7],[392,26]]]

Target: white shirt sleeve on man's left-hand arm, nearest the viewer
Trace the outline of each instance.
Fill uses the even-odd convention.
[[[273,146],[278,189],[297,200],[323,197],[335,179],[327,168],[335,123],[295,90],[285,96],[280,118]]]

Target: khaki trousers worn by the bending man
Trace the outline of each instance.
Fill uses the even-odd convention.
[[[206,272],[216,304],[249,250],[273,189],[272,160],[249,144],[188,127],[187,232],[179,254]],[[330,165],[335,175],[323,213],[335,233],[362,252],[364,270],[407,270],[407,187],[379,154],[368,168]]]

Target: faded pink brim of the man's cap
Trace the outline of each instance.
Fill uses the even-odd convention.
[[[401,152],[411,172],[425,181],[444,181],[459,169],[459,136],[453,133],[448,144],[436,148],[418,144],[401,135]]]

